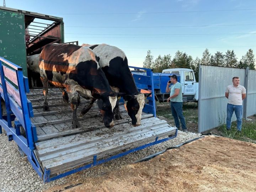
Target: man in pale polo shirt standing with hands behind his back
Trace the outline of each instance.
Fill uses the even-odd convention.
[[[232,82],[233,85],[227,86],[225,92],[225,96],[228,98],[226,129],[230,130],[231,118],[235,111],[237,130],[240,133],[242,129],[242,100],[245,99],[246,90],[244,86],[239,85],[239,77],[233,77]]]

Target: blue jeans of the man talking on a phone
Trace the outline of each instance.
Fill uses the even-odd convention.
[[[187,129],[185,117],[183,116],[182,113],[182,102],[171,101],[171,111],[172,116],[174,117],[175,127],[180,128],[180,122],[178,120],[180,118],[182,129]]]

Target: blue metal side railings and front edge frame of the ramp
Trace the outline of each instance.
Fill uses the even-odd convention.
[[[3,63],[5,65],[3,65]],[[139,81],[141,84],[148,86],[148,90],[138,89],[140,92],[152,93],[151,96],[147,98],[149,103],[145,104],[143,111],[146,113],[154,114],[154,117],[156,117],[153,71],[146,68],[139,68],[134,66],[129,67],[146,71],[146,75],[133,76],[135,81]],[[15,86],[17,86],[17,89]],[[156,137],[155,141],[152,143],[148,143],[137,148],[130,149],[126,152],[113,155],[107,159],[97,160],[97,156],[94,156],[93,162],[89,165],[84,165],[77,169],[73,169],[57,176],[50,177],[50,170],[45,169],[43,171],[36,159],[36,156],[33,153],[34,143],[37,141],[37,134],[36,127],[31,123],[30,120],[30,118],[33,117],[33,108],[31,102],[27,100],[26,92],[29,92],[28,79],[23,76],[22,68],[0,57],[0,98],[5,101],[6,108],[6,115],[2,114],[2,111],[0,110],[0,133],[2,133],[3,127],[6,130],[9,140],[15,140],[19,149],[27,155],[27,159],[30,161],[33,169],[36,170],[39,177],[43,178],[44,182],[50,182],[75,172],[89,169],[90,167],[100,165],[104,162],[120,158],[129,153],[133,153],[146,147],[165,142],[177,136],[176,129],[175,135],[171,137],[161,140],[158,140],[158,137]],[[1,108],[3,107],[4,106],[1,105]],[[16,121],[14,121],[15,118],[17,119]],[[14,127],[12,127],[12,121],[14,121]],[[20,127],[25,129],[26,137],[21,135]]]

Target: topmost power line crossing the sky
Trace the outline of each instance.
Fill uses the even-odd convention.
[[[256,9],[223,9],[223,10],[202,10],[202,11],[170,11],[170,12],[131,12],[131,13],[60,13],[60,15],[133,15],[133,14],[172,14],[172,13],[193,13],[193,12],[223,12],[223,11],[254,11]],[[47,15],[58,15],[50,13]]]

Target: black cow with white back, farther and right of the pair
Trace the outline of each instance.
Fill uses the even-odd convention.
[[[142,94],[138,91],[124,52],[117,47],[107,44],[82,44],[82,46],[89,47],[96,53],[99,58],[99,64],[108,79],[111,89],[115,92],[125,93],[123,98],[128,115],[132,119],[132,125],[139,126],[142,109],[145,105],[145,98],[150,96],[151,93]],[[84,107],[81,113],[84,114],[89,111],[94,101],[95,99],[92,99],[91,103]],[[98,102],[100,102],[100,100],[98,100]],[[117,106],[114,111],[117,119],[122,118],[119,106]]]

